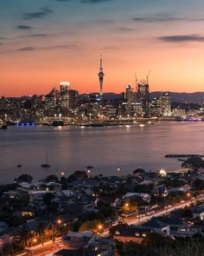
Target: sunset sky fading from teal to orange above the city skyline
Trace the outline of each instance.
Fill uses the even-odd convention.
[[[204,91],[203,0],[0,0],[0,95]]]

